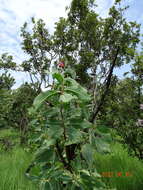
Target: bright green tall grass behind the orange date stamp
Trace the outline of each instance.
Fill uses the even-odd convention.
[[[109,187],[117,190],[143,190],[143,163],[129,156],[121,144],[112,145],[111,154],[96,154],[95,160],[99,173],[113,172],[112,177],[102,177]],[[118,172],[121,172],[122,176],[118,176]],[[130,172],[132,176],[126,176],[126,172]]]

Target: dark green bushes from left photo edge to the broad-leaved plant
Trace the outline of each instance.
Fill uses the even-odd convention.
[[[17,128],[21,143],[26,142],[30,120],[28,108],[31,107],[36,95],[36,91],[28,84],[22,85],[17,90],[0,89],[0,128]]]

